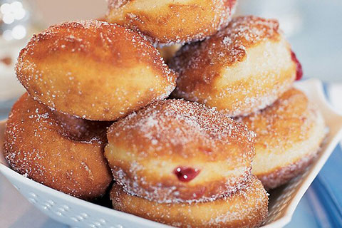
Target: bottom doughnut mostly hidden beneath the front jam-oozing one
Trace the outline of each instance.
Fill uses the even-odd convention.
[[[131,196],[114,185],[113,208],[173,227],[259,227],[267,216],[268,197],[261,182],[250,178],[247,187],[212,202],[158,204]]]

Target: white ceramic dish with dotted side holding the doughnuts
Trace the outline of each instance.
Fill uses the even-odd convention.
[[[336,114],[326,102],[321,81],[314,79],[302,81],[296,83],[296,87],[303,90],[309,99],[314,100],[323,113],[329,133],[314,164],[308,167],[303,175],[271,192],[269,217],[264,224],[265,228],[284,227],[290,222],[299,200],[342,138],[342,116]],[[0,123],[1,145],[4,138],[4,125],[4,121]],[[118,212],[71,197],[19,175],[6,164],[2,156],[2,148],[0,148],[0,162],[2,163],[0,172],[19,192],[43,213],[59,222],[74,227],[168,227],[132,214]]]

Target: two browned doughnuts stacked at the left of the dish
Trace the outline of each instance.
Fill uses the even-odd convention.
[[[103,156],[110,124],[167,98],[176,80],[149,41],[104,21],[66,22],[34,35],[16,74],[27,93],[6,124],[9,165],[87,200],[113,181]]]

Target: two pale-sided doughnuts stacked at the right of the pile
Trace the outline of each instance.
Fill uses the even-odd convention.
[[[252,172],[266,189],[314,160],[325,123],[293,88],[303,71],[277,21],[236,17],[214,36],[182,46],[170,67],[179,74],[174,98],[217,108],[257,133]]]

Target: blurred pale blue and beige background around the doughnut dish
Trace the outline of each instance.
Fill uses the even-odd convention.
[[[11,105],[24,93],[14,65],[32,34],[62,21],[103,17],[106,6],[105,0],[0,0],[0,120],[7,117]],[[331,102],[342,112],[341,0],[239,0],[237,14],[278,19],[303,65],[304,78],[324,81]],[[341,150],[338,152],[333,153],[333,160],[342,162]],[[329,167],[326,165],[321,172],[325,180],[334,172],[327,170]],[[313,219],[318,217],[311,204],[316,196],[315,183],[289,227],[328,227],[328,223],[319,224],[322,219]],[[341,182],[334,190],[341,195]],[[34,209],[1,175],[0,221],[0,227],[64,227]]]

